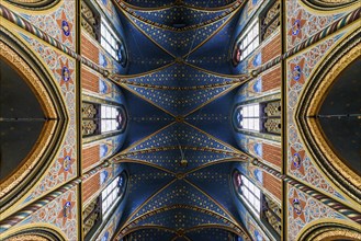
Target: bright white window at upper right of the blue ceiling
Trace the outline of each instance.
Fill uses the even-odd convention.
[[[238,38],[238,46],[241,49],[239,61],[247,58],[259,46],[259,21],[258,18],[251,22]]]

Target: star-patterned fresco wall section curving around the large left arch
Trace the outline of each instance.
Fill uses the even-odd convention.
[[[40,197],[48,191],[57,187],[77,175],[77,147],[76,147],[76,65],[75,60],[60,54],[48,45],[44,45],[41,41],[24,35],[19,35],[33,48],[47,68],[49,69],[57,87],[59,88],[68,113],[68,128],[63,140],[57,158],[48,169],[47,174],[35,186],[33,192],[25,198],[24,203]]]

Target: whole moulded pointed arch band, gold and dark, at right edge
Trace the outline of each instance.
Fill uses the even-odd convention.
[[[296,107],[295,119],[307,149],[326,175],[352,199],[361,202],[361,177],[338,154],[319,124],[319,110],[337,77],[360,58],[360,30],[338,45],[307,82]],[[312,97],[311,97],[312,96]]]

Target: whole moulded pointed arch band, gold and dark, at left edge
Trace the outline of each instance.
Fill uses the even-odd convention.
[[[45,124],[33,148],[16,169],[0,181],[1,210],[18,202],[43,175],[60,148],[68,123],[67,111],[59,90],[52,77],[32,55],[32,51],[12,34],[1,33],[1,59],[13,68],[36,96],[44,114]],[[5,161],[5,160],[4,160]]]

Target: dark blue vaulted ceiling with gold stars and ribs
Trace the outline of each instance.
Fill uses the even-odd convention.
[[[233,200],[236,88],[229,46],[242,1],[117,1],[131,60],[112,76],[126,91],[128,138],[113,162],[127,163],[119,238],[249,239]],[[150,230],[150,231],[149,231]],[[217,239],[215,239],[217,238]]]

